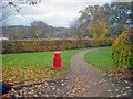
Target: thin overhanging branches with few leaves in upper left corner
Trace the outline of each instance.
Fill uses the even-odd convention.
[[[19,7],[19,4],[27,3],[35,6],[41,1],[42,0],[0,0],[0,12],[2,12],[2,15],[0,15],[0,22],[2,22],[2,25],[7,25],[9,18],[11,15],[14,15],[16,12],[20,12],[21,8]]]

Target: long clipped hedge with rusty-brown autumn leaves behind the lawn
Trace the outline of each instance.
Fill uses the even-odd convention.
[[[112,45],[112,38],[6,40],[2,41],[2,53],[45,52],[109,46]]]

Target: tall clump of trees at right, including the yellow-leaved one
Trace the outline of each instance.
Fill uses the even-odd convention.
[[[74,37],[116,38],[126,26],[133,28],[130,2],[89,6],[80,13],[80,18],[72,22],[69,31]]]

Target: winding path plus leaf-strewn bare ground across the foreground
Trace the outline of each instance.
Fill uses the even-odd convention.
[[[95,48],[93,48],[95,50]],[[105,74],[86,64],[84,55],[93,50],[78,52],[71,58],[66,75],[52,79],[40,79],[37,84],[17,84],[9,97],[130,97],[129,85],[114,81]]]

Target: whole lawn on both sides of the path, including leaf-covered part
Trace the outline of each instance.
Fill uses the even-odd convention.
[[[93,47],[90,47],[93,48]],[[98,47],[98,51],[90,52],[85,55],[88,63],[102,70],[112,67],[111,55],[108,54],[110,47]],[[70,67],[71,57],[78,52],[89,48],[65,50],[62,53],[63,70],[52,70],[53,52],[37,52],[37,53],[16,53],[2,55],[2,79],[3,81],[25,81],[35,80],[38,78],[50,79],[51,75],[60,75],[66,73]],[[108,56],[106,56],[108,54]],[[110,61],[109,61],[110,59]],[[109,67],[106,67],[109,66]],[[101,68],[102,67],[102,68]]]

